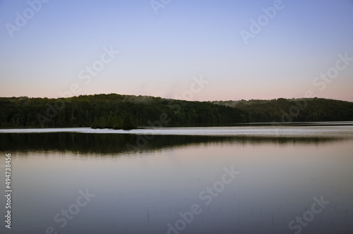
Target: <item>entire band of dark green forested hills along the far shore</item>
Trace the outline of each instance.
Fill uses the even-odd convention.
[[[353,121],[353,102],[319,98],[210,102],[119,94],[0,97],[0,128],[131,129],[298,121]]]

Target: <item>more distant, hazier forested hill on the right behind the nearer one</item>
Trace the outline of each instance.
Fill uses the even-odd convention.
[[[240,109],[249,123],[353,121],[353,102],[321,98],[213,101]]]

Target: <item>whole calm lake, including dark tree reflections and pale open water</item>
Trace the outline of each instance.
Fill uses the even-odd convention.
[[[353,125],[0,130],[1,233],[352,233]]]

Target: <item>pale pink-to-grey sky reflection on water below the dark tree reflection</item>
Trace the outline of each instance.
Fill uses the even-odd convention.
[[[333,224],[337,233],[353,228],[352,140],[248,143],[199,142],[119,155],[14,152],[13,229],[1,226],[1,233],[44,233],[47,226],[60,233],[167,233],[167,223],[194,203],[203,212],[186,233],[292,233],[289,221],[321,195],[330,205],[301,233],[328,233]],[[204,206],[199,193],[230,166],[241,174]],[[96,197],[59,228],[54,215],[86,188]]]

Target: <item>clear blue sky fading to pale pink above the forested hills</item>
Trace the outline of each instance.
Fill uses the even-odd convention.
[[[353,0],[0,0],[0,97],[353,101]]]

